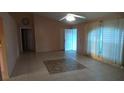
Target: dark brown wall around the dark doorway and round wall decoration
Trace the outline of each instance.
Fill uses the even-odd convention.
[[[34,35],[35,33],[34,33],[33,13],[27,13],[27,12],[15,13],[14,12],[14,13],[9,13],[9,14],[14,18],[17,24],[18,44],[19,44],[20,53],[23,52],[20,28],[30,29],[31,33],[33,34],[32,39],[31,39],[32,45],[30,47],[32,48],[33,51],[35,51],[35,35]],[[22,22],[23,18],[27,18],[29,20],[29,24],[24,25]]]

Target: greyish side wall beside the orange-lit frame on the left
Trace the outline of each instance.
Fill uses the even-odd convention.
[[[7,66],[9,75],[11,75],[16,60],[19,56],[18,43],[17,43],[17,28],[13,18],[8,13],[0,13],[3,20],[3,31],[5,38]]]

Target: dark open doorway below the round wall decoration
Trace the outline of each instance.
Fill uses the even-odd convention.
[[[35,51],[34,33],[30,28],[21,28],[21,52],[33,52]]]

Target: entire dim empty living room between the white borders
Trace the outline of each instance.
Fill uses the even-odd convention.
[[[0,30],[0,80],[124,80],[124,13],[1,12]]]

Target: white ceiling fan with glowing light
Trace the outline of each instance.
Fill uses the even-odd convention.
[[[76,15],[76,14],[72,14],[72,13],[68,13],[68,14],[66,14],[66,16],[61,18],[59,21],[66,20],[68,22],[73,22],[73,21],[76,20],[76,18],[85,19],[86,17],[80,16],[80,15]]]

